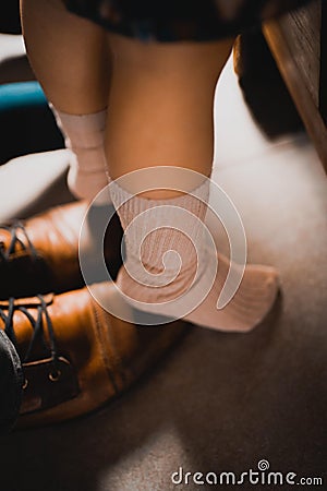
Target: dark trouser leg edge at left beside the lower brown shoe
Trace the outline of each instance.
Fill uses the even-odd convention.
[[[22,402],[23,372],[19,355],[0,330],[0,435],[15,423]]]

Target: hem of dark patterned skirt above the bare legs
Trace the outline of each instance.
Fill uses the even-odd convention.
[[[63,0],[108,31],[142,40],[231,37],[310,0]]]

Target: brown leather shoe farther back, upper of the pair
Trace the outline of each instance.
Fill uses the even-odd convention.
[[[84,286],[78,237],[87,207],[86,201],[78,201],[25,221],[0,226],[0,299]],[[113,214],[105,241],[106,262],[113,279],[121,265],[121,238],[122,228]]]

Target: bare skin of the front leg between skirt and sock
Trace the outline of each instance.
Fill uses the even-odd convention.
[[[160,165],[209,176],[214,94],[232,40],[145,44],[108,38],[114,56],[107,135],[111,177]]]

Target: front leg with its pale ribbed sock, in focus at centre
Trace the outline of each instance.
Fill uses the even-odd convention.
[[[109,35],[109,43],[113,74],[106,149],[111,178],[154,166],[178,166],[209,177],[215,88],[232,40],[160,45]],[[244,332],[257,325],[276,298],[277,274],[269,267],[247,266],[237,295],[217,310],[229,261],[219,254],[218,273],[208,287],[213,260],[217,261],[204,247],[208,182],[199,183],[196,197],[187,193],[191,188],[181,195],[155,190],[132,196],[140,192],[137,184],[129,181],[124,188],[114,181],[111,191],[126,230],[126,262],[118,285],[130,303],[222,331]],[[199,276],[192,285],[196,270]],[[198,294],[204,294],[199,304]]]

